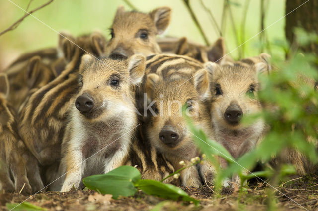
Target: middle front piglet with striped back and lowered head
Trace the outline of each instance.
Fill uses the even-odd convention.
[[[147,109],[144,117],[146,134],[152,146],[178,170],[184,167],[180,161],[191,165],[191,159],[200,156],[182,114],[184,106],[185,114],[194,125],[211,136],[206,104],[209,99],[208,71],[202,63],[187,56],[156,55],[147,62],[144,92],[151,109]],[[196,166],[181,171],[180,179],[184,186],[201,185]]]

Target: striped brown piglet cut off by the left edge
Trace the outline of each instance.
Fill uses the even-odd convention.
[[[7,86],[5,93],[3,88]],[[18,136],[15,112],[6,100],[8,81],[0,75],[0,190],[31,194],[43,188],[36,159]],[[30,179],[28,179],[28,177]],[[24,188],[23,188],[24,186]],[[23,188],[23,190],[22,190]]]

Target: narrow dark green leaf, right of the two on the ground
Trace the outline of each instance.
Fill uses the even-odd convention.
[[[146,194],[158,196],[164,199],[172,199],[175,201],[193,202],[195,205],[199,204],[199,200],[190,197],[186,192],[180,188],[170,184],[163,184],[155,180],[138,180],[134,182],[135,187],[141,189]]]

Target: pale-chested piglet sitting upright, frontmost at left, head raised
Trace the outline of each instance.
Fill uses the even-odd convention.
[[[62,143],[62,191],[79,188],[82,178],[124,164],[137,126],[134,86],[142,81],[145,58],[128,60],[84,55],[79,93],[69,111]]]

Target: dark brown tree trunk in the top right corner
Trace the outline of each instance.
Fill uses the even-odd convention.
[[[288,14],[306,0],[286,0],[286,12]],[[318,34],[318,0],[309,0],[307,3],[286,16],[285,35],[292,44],[294,42],[294,27],[302,27],[307,32]],[[318,44],[311,43],[302,48],[305,52],[311,52],[318,56]]]

